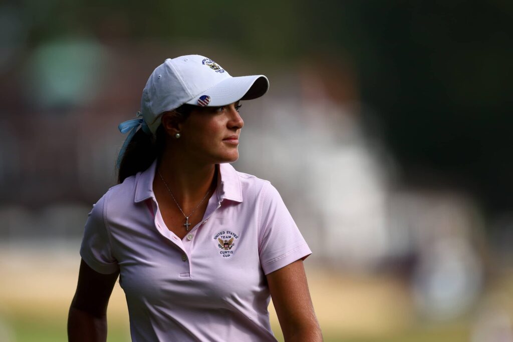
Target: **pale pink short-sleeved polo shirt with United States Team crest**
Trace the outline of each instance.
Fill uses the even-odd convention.
[[[156,161],[89,213],[80,254],[120,270],[133,341],[275,341],[265,275],[311,254],[278,191],[220,164],[203,220],[183,239],[152,190]]]

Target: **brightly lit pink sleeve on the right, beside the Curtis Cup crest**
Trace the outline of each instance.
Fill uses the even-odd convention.
[[[262,189],[261,205],[259,254],[264,274],[305,259],[312,253],[278,190],[268,182]]]

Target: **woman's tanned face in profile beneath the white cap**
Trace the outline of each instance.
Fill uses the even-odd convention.
[[[239,102],[224,107],[198,107],[179,124],[181,137],[173,143],[194,160],[206,164],[235,162],[244,121]]]

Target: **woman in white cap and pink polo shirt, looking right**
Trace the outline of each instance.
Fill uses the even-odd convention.
[[[235,171],[240,100],[263,75],[232,77],[188,55],[150,75],[118,158],[119,185],[93,206],[81,247],[70,341],[105,341],[120,276],[133,341],[320,341],[303,259],[311,252],[277,190]],[[137,130],[141,127],[139,130]]]

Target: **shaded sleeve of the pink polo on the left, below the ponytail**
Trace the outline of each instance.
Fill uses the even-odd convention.
[[[105,220],[108,194],[93,205],[88,214],[80,256],[86,264],[98,273],[111,274],[119,270],[117,260],[112,256],[112,246]]]

